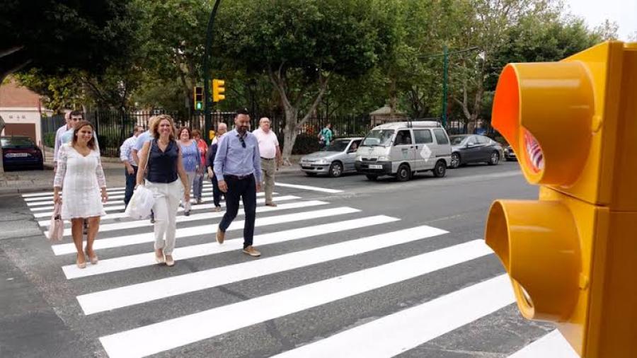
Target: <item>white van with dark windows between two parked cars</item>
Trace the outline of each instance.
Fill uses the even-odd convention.
[[[447,131],[435,121],[392,122],[374,127],[356,151],[355,167],[367,179],[394,175],[399,181],[432,171],[441,178],[451,163]]]

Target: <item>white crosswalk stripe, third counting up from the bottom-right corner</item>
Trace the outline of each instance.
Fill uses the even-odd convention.
[[[275,294],[107,335],[101,337],[100,341],[111,358],[144,357],[425,275],[492,252],[483,240],[470,241]]]

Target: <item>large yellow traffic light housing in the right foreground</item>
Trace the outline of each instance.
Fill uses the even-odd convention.
[[[498,200],[486,243],[529,319],[582,357],[637,357],[637,44],[507,64],[492,123],[539,200]]]

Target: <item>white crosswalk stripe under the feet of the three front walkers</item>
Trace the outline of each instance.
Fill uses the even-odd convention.
[[[360,229],[367,226],[386,224],[398,220],[400,219],[385,215],[367,216],[361,219],[337,221],[330,224],[320,224],[273,233],[263,233],[254,236],[253,239],[256,245],[263,247],[274,243],[283,243],[300,238],[324,235],[326,233]],[[173,256],[179,260],[185,260],[188,258],[200,258],[202,256],[240,250],[242,247],[243,238],[236,238],[226,240],[224,245],[219,245],[217,242],[214,242],[176,248],[173,251]],[[62,267],[62,271],[64,271],[64,275],[66,275],[67,279],[76,279],[79,277],[101,275],[108,272],[130,270],[137,267],[151,265],[156,265],[154,253],[140,253],[137,255],[122,256],[119,258],[103,259],[100,260],[99,265],[88,265],[84,269],[78,268],[77,265],[66,265]]]

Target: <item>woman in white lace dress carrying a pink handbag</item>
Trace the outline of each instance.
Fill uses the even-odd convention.
[[[77,249],[77,267],[86,267],[86,257],[93,265],[98,257],[93,251],[93,241],[100,227],[100,216],[105,215],[103,203],[108,200],[106,180],[96,150],[93,125],[78,122],[73,131],[73,140],[64,144],[57,158],[57,172],[53,180],[53,200],[62,201],[62,219],[71,221],[71,235]],[[64,200],[60,190],[64,187]],[[86,251],[82,250],[82,226],[88,221]]]

